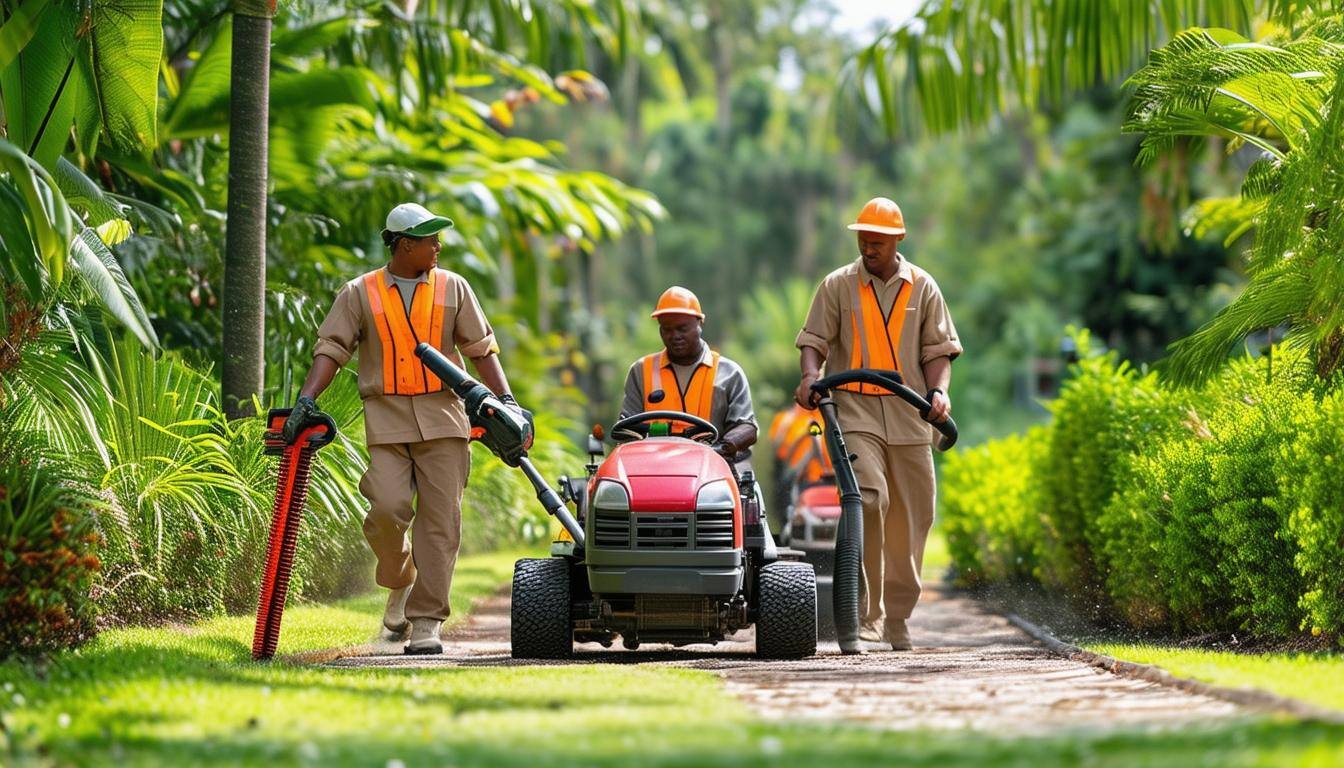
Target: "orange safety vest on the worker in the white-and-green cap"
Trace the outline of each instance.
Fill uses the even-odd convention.
[[[401,292],[384,277],[386,269],[364,276],[364,292],[374,312],[374,327],[383,343],[383,394],[429,394],[444,389],[419,358],[415,346],[429,342],[444,351],[444,304],[448,296],[448,274],[442,269],[429,270],[429,282],[415,285],[411,311],[406,312]],[[387,308],[392,309],[388,311]]]

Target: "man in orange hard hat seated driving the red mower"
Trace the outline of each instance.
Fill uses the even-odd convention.
[[[726,457],[754,445],[757,421],[747,375],[704,343],[700,300],[673,285],[663,292],[652,317],[659,321],[664,348],[630,366],[621,418],[645,410],[680,410],[718,428],[715,449]]]

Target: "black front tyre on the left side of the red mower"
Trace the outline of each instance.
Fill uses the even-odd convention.
[[[513,564],[509,644],[515,659],[566,659],[574,652],[570,564],[559,557]]]

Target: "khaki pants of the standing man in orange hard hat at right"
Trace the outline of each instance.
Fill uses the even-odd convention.
[[[933,449],[887,445],[866,432],[847,433],[844,440],[857,456],[853,473],[863,495],[860,619],[886,627],[909,619],[919,601],[919,569],[933,526]]]

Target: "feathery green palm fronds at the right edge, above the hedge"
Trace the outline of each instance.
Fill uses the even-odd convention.
[[[1171,374],[1199,382],[1249,334],[1289,327],[1322,378],[1344,363],[1344,22],[1301,36],[1250,42],[1189,30],[1134,74],[1126,130],[1142,132],[1141,160],[1184,137],[1251,145],[1239,199],[1206,204],[1231,237],[1255,230],[1245,292],[1172,344]]]

